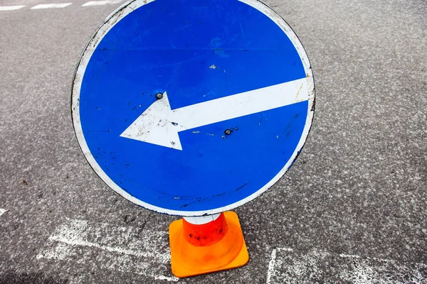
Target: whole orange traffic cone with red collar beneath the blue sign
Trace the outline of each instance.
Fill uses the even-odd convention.
[[[249,255],[237,214],[183,217],[169,226],[172,273],[183,278],[237,268]]]

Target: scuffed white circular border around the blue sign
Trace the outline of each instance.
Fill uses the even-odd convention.
[[[131,13],[135,9],[138,9],[140,6],[149,4],[155,0],[135,0],[127,2],[126,4],[123,4],[120,6],[119,9],[117,9],[115,12],[111,13],[110,16],[108,16],[102,26],[98,28],[97,31],[95,31],[93,37],[90,39],[88,45],[86,46],[85,50],[83,51],[83,55],[80,58],[80,61],[78,62],[77,70],[75,71],[74,79],[73,79],[73,92],[71,96],[71,111],[73,114],[73,124],[74,124],[74,130],[75,135],[77,136],[78,143],[80,144],[80,148],[83,151],[83,154],[85,155],[86,159],[88,160],[90,166],[95,170],[95,173],[100,176],[100,178],[109,186],[112,188],[112,190],[115,190],[119,195],[122,197],[125,197],[127,200],[130,200],[131,202],[138,204],[139,206],[142,206],[146,209],[153,210],[155,212],[161,212],[165,214],[170,215],[179,215],[184,217],[192,217],[192,216],[202,216],[202,215],[210,215],[210,214],[216,214],[220,212],[225,212],[230,209],[234,209],[236,207],[239,207],[246,202],[249,202],[253,200],[255,197],[258,197],[263,192],[268,190],[270,187],[272,187],[275,182],[278,182],[280,178],[286,173],[286,171],[290,168],[292,163],[297,158],[297,155],[300,153],[302,146],[304,146],[305,141],[307,140],[308,133],[310,132],[310,127],[312,124],[312,119],[314,115],[314,108],[315,108],[315,82],[312,75],[312,69],[310,66],[310,62],[308,60],[307,54],[305,53],[304,48],[302,47],[302,44],[300,43],[300,40],[297,38],[297,35],[292,31],[290,26],[288,26],[288,23],[283,20],[275,11],[270,9],[266,4],[263,4],[261,1],[257,0],[239,0],[245,4],[248,4],[249,6],[252,6],[253,8],[257,9],[258,11],[265,14],[265,16],[268,16],[273,22],[275,22],[280,28],[282,28],[283,32],[288,35],[288,38],[292,41],[293,45],[297,49],[298,54],[300,55],[302,64],[304,65],[305,69],[305,75],[307,79],[307,89],[308,89],[308,109],[307,109],[307,120],[305,121],[305,127],[302,131],[302,136],[300,138],[300,142],[297,145],[297,148],[295,149],[295,152],[292,153],[292,156],[290,160],[288,160],[288,163],[285,164],[282,170],[275,175],[275,177],[270,180],[266,185],[264,185],[260,190],[253,193],[252,195],[246,197],[243,200],[240,200],[238,202],[235,202],[233,204],[229,204],[224,207],[218,207],[211,210],[206,211],[179,211],[179,210],[171,210],[167,208],[157,207],[152,204],[148,204],[146,202],[142,202],[141,200],[137,200],[137,198],[133,197],[129,193],[125,192],[125,190],[122,190],[115,182],[113,182],[106,173],[102,170],[100,165],[97,164],[95,158],[93,158],[92,153],[90,153],[88,144],[85,141],[85,137],[83,136],[83,130],[80,123],[80,108],[79,108],[79,98],[80,98],[80,87],[83,82],[83,75],[85,74],[86,67],[88,66],[88,62],[93,55],[94,50],[97,48],[97,45],[100,43],[100,40],[104,37],[105,34],[110,31],[110,29],[115,26],[116,23],[118,23],[122,18],[125,18],[127,14]]]

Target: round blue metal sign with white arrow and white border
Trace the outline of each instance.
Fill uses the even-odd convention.
[[[95,172],[147,209],[201,216],[268,190],[305,143],[310,62],[255,0],[137,0],[75,73],[73,123]]]

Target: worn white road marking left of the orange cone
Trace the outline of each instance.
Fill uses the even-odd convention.
[[[75,263],[93,257],[99,269],[136,273],[154,280],[179,280],[170,270],[169,239],[163,231],[68,219],[36,256]]]

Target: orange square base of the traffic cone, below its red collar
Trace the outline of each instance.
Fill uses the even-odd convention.
[[[194,246],[184,239],[182,219],[169,225],[172,273],[179,278],[224,271],[249,261],[243,232],[235,212],[224,212],[228,231],[211,246]]]

